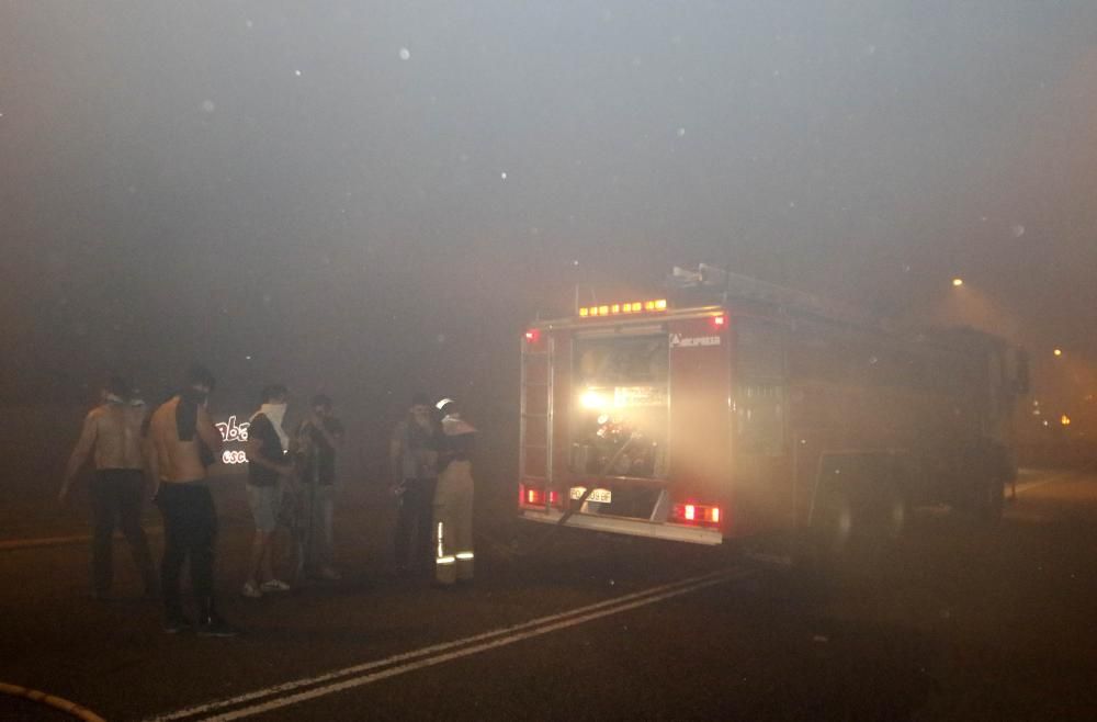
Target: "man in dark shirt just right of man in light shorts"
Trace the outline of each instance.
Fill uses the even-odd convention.
[[[332,413],[331,398],[317,394],[313,413],[297,427],[301,507],[304,517],[302,556],[307,576],[338,579],[332,565],[335,537],[336,452],[342,445],[343,425]]]

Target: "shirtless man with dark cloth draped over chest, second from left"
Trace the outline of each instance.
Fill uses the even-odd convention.
[[[218,614],[213,599],[213,561],[217,541],[217,511],[206,485],[206,467],[220,454],[220,433],[206,411],[214,377],[192,366],[178,395],[165,402],[149,424],[149,467],[159,482],[156,496],[163,514],[163,591],[169,634],[191,627],[183,613],[179,576],[190,556],[191,587],[199,605],[197,633],[233,636],[236,630]]]

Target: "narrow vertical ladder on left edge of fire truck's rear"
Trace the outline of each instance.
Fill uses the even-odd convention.
[[[553,387],[552,387],[552,357],[553,339],[550,335],[545,340],[546,348],[543,351],[531,349],[531,345],[522,342],[522,365],[521,365],[521,399],[519,401],[520,417],[518,425],[519,435],[519,475],[524,483],[529,481],[542,482],[544,486],[545,511],[551,506],[551,489],[553,484],[553,460],[552,460],[552,435],[553,435]],[[531,410],[531,394],[538,399],[538,406],[543,405],[543,410]],[[544,469],[539,474],[530,473],[530,452],[541,453],[544,456]],[[540,470],[539,470],[540,471]]]

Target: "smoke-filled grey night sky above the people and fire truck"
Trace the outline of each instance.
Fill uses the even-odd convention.
[[[1095,194],[1092,0],[0,0],[0,391],[509,379],[698,261],[1093,360]]]

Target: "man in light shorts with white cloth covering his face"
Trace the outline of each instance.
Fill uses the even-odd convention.
[[[241,594],[252,599],[265,591],[285,591],[290,585],[274,576],[271,560],[283,480],[293,474],[286,456],[290,437],[282,428],[289,390],[281,384],[267,386],[262,406],[251,416],[248,427],[248,506],[256,522],[251,541],[251,566]]]

